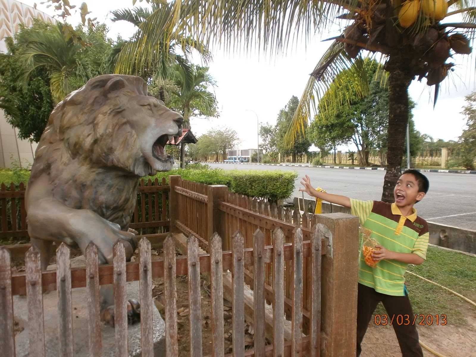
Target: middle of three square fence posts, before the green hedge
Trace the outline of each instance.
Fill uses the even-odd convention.
[[[231,250],[231,246],[225,231],[225,213],[218,209],[218,201],[225,200],[227,191],[226,185],[208,185],[207,237],[203,237],[208,240],[217,232],[222,239],[223,250]]]

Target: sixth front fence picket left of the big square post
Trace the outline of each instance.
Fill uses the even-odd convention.
[[[221,255],[221,237],[214,233],[210,238],[210,282],[211,282],[211,331],[214,357],[223,356],[223,257]]]

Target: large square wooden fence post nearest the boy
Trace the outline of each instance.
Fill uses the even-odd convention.
[[[322,257],[322,356],[355,356],[358,218],[345,213],[320,214],[316,224],[328,242]]]

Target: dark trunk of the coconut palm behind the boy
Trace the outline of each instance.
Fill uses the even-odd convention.
[[[410,60],[404,55],[391,55],[386,69],[388,77],[388,146],[387,172],[384,178],[382,201],[394,202],[393,189],[401,176],[403,147],[407,130],[409,105],[408,86],[412,80]]]

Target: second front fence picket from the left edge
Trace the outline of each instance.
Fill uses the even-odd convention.
[[[25,254],[30,355],[45,356],[43,296],[41,289],[40,251],[31,247]]]

